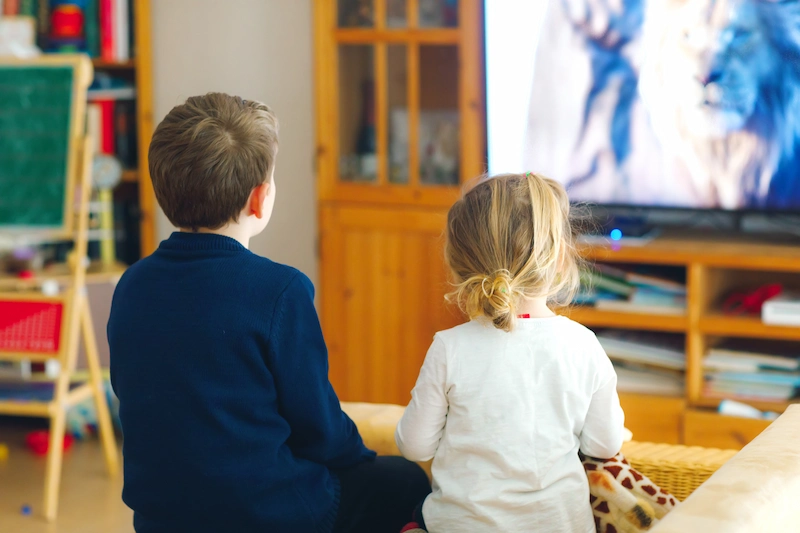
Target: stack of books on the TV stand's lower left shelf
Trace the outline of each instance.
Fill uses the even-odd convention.
[[[682,335],[603,330],[597,340],[614,364],[620,392],[681,395],[686,369]]]

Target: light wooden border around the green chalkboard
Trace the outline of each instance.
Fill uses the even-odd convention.
[[[81,142],[86,116],[86,89],[92,83],[92,64],[83,54],[52,54],[35,59],[1,57],[0,67],[72,67],[72,102],[70,106],[69,139],[67,140],[66,177],[64,185],[64,216],[60,226],[51,228],[19,228],[0,226],[4,231],[28,231],[39,235],[69,236],[74,231],[74,198],[81,162],[76,154],[81,152]]]

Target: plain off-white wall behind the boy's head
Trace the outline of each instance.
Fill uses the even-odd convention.
[[[281,123],[278,197],[251,248],[316,281],[311,0],[156,0],[152,9],[156,123],[210,91],[269,105]],[[171,231],[162,216],[159,239]]]

